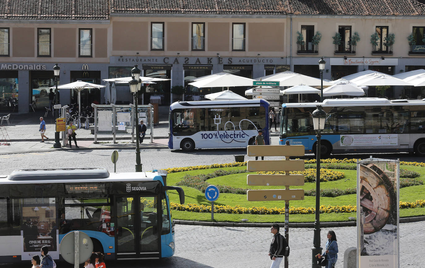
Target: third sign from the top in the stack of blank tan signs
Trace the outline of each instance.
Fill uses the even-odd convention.
[[[263,175],[249,174],[246,176],[248,185],[258,186],[286,186],[286,185],[304,185],[304,175]]]

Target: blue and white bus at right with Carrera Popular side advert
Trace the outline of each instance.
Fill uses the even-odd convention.
[[[302,144],[316,154],[312,112],[328,114],[320,154],[415,152],[425,155],[425,101],[385,98],[327,99],[323,103],[284,103],[280,119],[283,145]]]

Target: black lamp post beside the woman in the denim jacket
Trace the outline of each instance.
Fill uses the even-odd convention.
[[[317,265],[316,255],[322,254],[320,247],[320,131],[325,128],[326,112],[323,111],[321,105],[317,105],[317,109],[312,113],[314,130],[317,130],[316,144],[316,220],[314,221],[314,238],[312,247],[312,268],[319,268]]]

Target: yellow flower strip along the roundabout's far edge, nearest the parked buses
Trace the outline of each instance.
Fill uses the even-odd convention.
[[[299,159],[299,158],[297,158]],[[360,159],[359,159],[360,160]],[[306,164],[314,164],[316,163],[315,159],[310,160],[304,160]],[[357,163],[357,159],[355,158],[344,158],[344,159],[335,159],[335,158],[328,158],[328,159],[320,159],[320,163],[339,163],[339,164],[347,164],[347,163]],[[425,167],[425,163],[418,163],[418,162],[405,162],[400,161],[400,165],[413,165],[413,166],[420,166]],[[198,169],[209,169],[209,168],[228,168],[228,167],[241,167],[246,166],[245,162],[232,162],[227,164],[212,164],[212,165],[195,165],[190,167],[182,167],[182,168],[164,168],[168,173],[174,173],[174,172],[181,172],[181,171],[189,171],[189,170],[198,170]]]

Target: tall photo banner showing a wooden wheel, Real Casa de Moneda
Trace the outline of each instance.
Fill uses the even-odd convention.
[[[357,267],[399,267],[399,161],[357,162]]]

